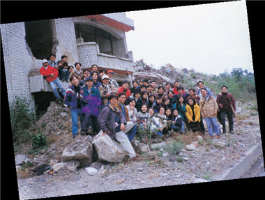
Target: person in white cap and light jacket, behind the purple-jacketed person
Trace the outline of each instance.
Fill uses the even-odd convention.
[[[109,95],[111,95],[111,94],[116,95],[117,89],[114,85],[109,84],[109,76],[108,75],[103,75],[101,80],[102,80],[102,85],[98,87],[98,90],[100,91],[100,96],[102,98],[102,108],[104,108],[108,105]]]

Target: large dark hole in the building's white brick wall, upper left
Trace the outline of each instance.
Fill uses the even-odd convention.
[[[48,59],[52,53],[51,20],[25,22],[26,41],[36,59]]]

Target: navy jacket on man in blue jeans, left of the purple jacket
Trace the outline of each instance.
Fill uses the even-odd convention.
[[[79,98],[82,102],[83,100],[83,91],[82,87],[79,86],[79,94],[77,95],[77,92],[75,91],[75,86],[72,85],[66,90],[66,95],[63,98],[63,102],[68,106],[72,107],[72,109],[77,108],[77,98]]]

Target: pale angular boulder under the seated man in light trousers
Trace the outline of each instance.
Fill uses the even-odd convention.
[[[107,134],[102,136],[102,131],[96,135],[92,144],[96,148],[100,161],[126,162],[129,158],[128,152],[124,151],[122,146]]]

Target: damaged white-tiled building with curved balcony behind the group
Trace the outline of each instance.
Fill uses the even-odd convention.
[[[126,32],[134,30],[134,23],[125,13],[17,22],[0,28],[9,102],[19,96],[36,105],[40,94],[43,98],[43,93],[51,93],[38,72],[50,54],[56,55],[56,61],[67,55],[69,66],[79,62],[82,69],[92,64],[112,69],[118,83],[132,82],[133,59]]]

